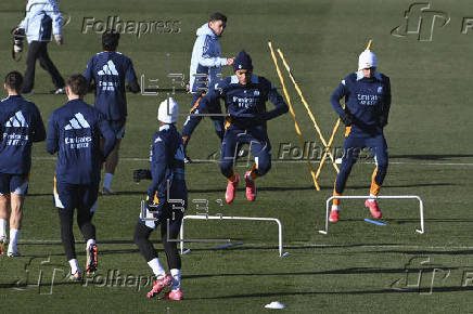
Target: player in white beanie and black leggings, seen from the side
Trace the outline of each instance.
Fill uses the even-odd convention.
[[[141,254],[156,276],[148,298],[156,297],[164,288],[170,286],[170,290],[163,299],[176,301],[182,299],[181,258],[176,239],[183,211],[188,206],[183,143],[175,127],[178,113],[178,104],[171,97],[159,104],[157,114],[159,129],[153,136],[150,152],[152,183],[148,189],[145,215],[140,215],[133,237]],[[155,221],[143,219],[155,219]],[[170,276],[166,274],[149,239],[159,224]]]

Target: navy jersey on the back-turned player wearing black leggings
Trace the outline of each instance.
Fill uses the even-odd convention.
[[[100,138],[105,139],[103,152]],[[57,181],[90,184],[100,181],[100,165],[115,145],[115,133],[103,115],[81,100],[55,109],[49,118],[46,148],[59,152]]]

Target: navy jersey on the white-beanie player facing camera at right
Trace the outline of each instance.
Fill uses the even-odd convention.
[[[333,108],[342,116],[340,100],[345,97],[346,110],[354,116],[351,133],[373,136],[383,133],[379,126],[380,116],[387,121],[391,107],[389,78],[381,73],[366,78],[361,71],[348,75],[330,97]]]

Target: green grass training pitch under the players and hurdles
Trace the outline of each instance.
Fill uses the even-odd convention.
[[[466,27],[465,19],[473,16],[472,2],[433,0],[427,9],[412,9],[409,23],[412,27],[422,21],[421,36],[396,31],[398,36],[392,35],[393,29],[405,25],[405,11],[414,3],[406,0],[60,2],[71,21],[63,30],[65,44],[51,43],[49,51],[64,76],[84,73],[87,61],[101,50],[100,35],[81,31],[87,17],[178,21],[178,31],[171,34],[153,32],[139,38],[123,35],[118,48],[131,57],[138,76],[159,79],[159,88],[167,89],[172,87],[166,77],[169,73],[183,73],[188,79],[195,29],[210,13],[221,11],[229,18],[220,40],[222,56],[245,49],[253,57],[255,73],[270,79],[282,93],[267,45],[271,40],[274,48],[284,52],[325,139],[336,118],[329,97],[340,80],[356,69],[358,54],[372,39],[379,70],[391,77],[393,91],[389,125],[385,129],[391,165],[382,195],[421,196],[425,234],[416,233],[419,209],[413,200],[380,201],[385,226],[363,221],[370,214],[362,200],[343,201],[341,221],[331,225],[328,235],[319,234],[335,172],[330,163],[325,165],[319,182],[322,189],[316,192],[307,165],[278,160],[281,145],[299,145],[287,114],[269,122],[274,162],[268,175],[257,181],[256,202],[248,204],[241,188],[234,204],[220,206],[217,199],[225,197],[226,180],[215,162],[188,166],[187,182],[190,200],[208,199],[210,214],[280,219],[284,252],[291,254],[278,257],[276,224],[188,221],[186,235],[191,238],[231,238],[243,245],[217,250],[222,243],[186,244],[191,252],[182,257],[184,300],[148,300],[151,272],[132,244],[148,182],[137,184],[131,179],[133,169],[148,167],[149,145],[157,128],[157,105],[166,93],[129,94],[127,131],[113,182],[118,195],[100,197],[94,217],[100,252],[98,273],[82,285],[62,278],[68,265],[52,204],[55,160],[47,154],[44,143],[39,143],[34,147],[24,211],[20,244],[23,256],[0,258],[1,311],[261,313],[270,311],[264,305],[271,301],[284,303],[287,308],[283,311],[292,313],[472,311],[473,30]],[[15,63],[10,58],[9,35],[24,16],[24,9],[23,1],[0,3],[0,77],[13,69],[25,70],[24,60]],[[421,15],[423,18],[419,19]],[[225,68],[223,74],[231,71]],[[320,145],[285,70],[283,74],[305,140]],[[49,76],[37,65],[35,94],[28,99],[39,106],[46,123],[50,113],[66,101],[65,96],[49,95],[50,89]],[[181,110],[190,105],[190,95],[178,92],[175,97]],[[92,95],[87,101],[93,103]],[[178,122],[179,129],[182,123],[183,118]],[[335,146],[342,143],[340,131]],[[213,123],[205,119],[194,133],[189,154],[206,159],[218,149]],[[239,163],[237,171],[243,174],[248,167]],[[372,159],[360,160],[345,195],[368,194],[372,170]],[[188,213],[196,211],[191,202]],[[77,227],[75,235],[84,267],[85,245]],[[154,235],[154,239],[164,258],[158,236]]]

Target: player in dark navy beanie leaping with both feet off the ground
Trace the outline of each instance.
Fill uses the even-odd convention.
[[[217,83],[199,104],[201,113],[208,113],[218,99],[223,99],[228,110],[225,135],[220,152],[220,171],[228,179],[225,199],[232,202],[240,182],[233,166],[241,144],[248,144],[255,156],[255,165],[244,175],[246,198],[256,199],[255,179],[265,175],[271,168],[271,144],[266,121],[287,113],[287,105],[276,88],[266,78],[253,74],[252,58],[241,51],[233,63],[234,76]],[[276,108],[267,112],[270,100]]]

